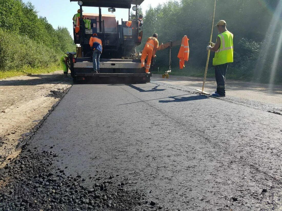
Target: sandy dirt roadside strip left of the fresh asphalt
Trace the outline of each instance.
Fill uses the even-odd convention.
[[[71,85],[62,71],[0,80],[0,168],[19,154],[19,142]]]

